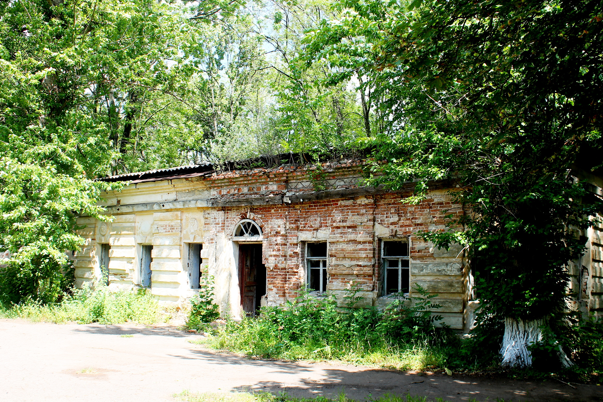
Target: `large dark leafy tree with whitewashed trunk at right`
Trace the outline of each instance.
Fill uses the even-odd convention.
[[[466,207],[450,211],[450,230],[425,237],[466,245],[482,319],[505,322],[502,364],[531,365],[528,346],[565,308],[568,261],[584,247],[576,229],[601,207],[571,169],[601,149],[603,3],[341,0],[335,8],[343,17],[309,33],[305,60],[343,68],[331,82],[378,77],[387,121],[367,143],[386,163],[373,166],[373,182],[400,189],[415,180],[409,201],[418,202],[431,180],[450,180]]]

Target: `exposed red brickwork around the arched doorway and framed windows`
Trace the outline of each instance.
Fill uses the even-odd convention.
[[[332,183],[327,189],[355,187],[362,178],[359,165],[325,165]],[[276,169],[235,172],[206,178],[212,196],[237,199],[268,194],[312,192],[305,169]],[[254,185],[249,182],[253,180]],[[298,184],[306,181],[305,184]],[[434,261],[428,243],[418,239],[424,230],[444,228],[444,213],[462,212],[446,191],[435,192],[418,205],[403,204],[410,189],[400,193],[326,199],[297,204],[221,207],[206,213],[207,245],[224,232],[230,235],[241,219],[253,219],[264,234],[263,257],[267,266],[268,300],[279,304],[295,297],[305,282],[305,242],[300,237],[329,243],[329,284],[332,291],[345,291],[353,281],[363,291],[380,291],[380,239],[408,238],[413,262]],[[377,236],[375,225],[389,230]],[[306,235],[306,236],[304,236]],[[316,240],[318,239],[318,240]],[[461,275],[461,272],[459,272]],[[461,282],[462,277],[458,280]],[[460,295],[459,295],[460,297]]]

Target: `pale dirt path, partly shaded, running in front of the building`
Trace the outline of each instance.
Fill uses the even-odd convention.
[[[122,337],[122,334],[131,334]],[[56,325],[0,319],[0,401],[174,401],[234,390],[359,400],[393,393],[448,401],[603,401],[603,387],[417,375],[355,366],[247,360],[188,342],[168,325]]]

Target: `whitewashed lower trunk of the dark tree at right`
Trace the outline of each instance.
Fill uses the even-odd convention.
[[[529,367],[532,365],[532,354],[528,346],[542,340],[540,327],[544,324],[543,319],[526,321],[523,319],[505,318],[505,334],[502,336],[503,367]]]

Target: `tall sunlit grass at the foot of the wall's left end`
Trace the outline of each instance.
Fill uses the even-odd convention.
[[[153,324],[163,321],[162,309],[144,291],[111,292],[107,286],[74,289],[58,303],[42,304],[27,300],[11,306],[2,304],[0,315],[6,318],[26,318],[31,321],[77,322],[78,324],[121,324],[127,321]]]

